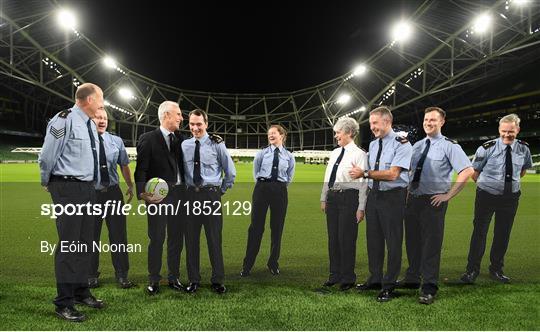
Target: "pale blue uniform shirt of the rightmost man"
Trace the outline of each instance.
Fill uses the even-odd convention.
[[[473,160],[473,167],[480,172],[476,181],[478,188],[493,195],[504,193],[504,176],[506,173],[506,146],[502,138],[482,144]],[[512,149],[512,192],[520,190],[520,173],[532,167],[531,151],[527,143],[514,140]]]

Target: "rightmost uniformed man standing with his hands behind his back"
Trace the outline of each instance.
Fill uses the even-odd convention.
[[[480,263],[486,249],[486,237],[491,217],[495,214],[493,244],[491,245],[489,274],[492,279],[508,283],[504,275],[504,255],[519,203],[520,179],[532,167],[529,145],[516,139],[520,119],[509,114],[499,121],[498,139],[482,144],[473,160],[473,180],[477,183],[474,203],[474,230],[467,271],[461,277],[472,284],[480,273]]]

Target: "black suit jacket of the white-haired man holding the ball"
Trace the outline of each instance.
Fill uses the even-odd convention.
[[[176,140],[169,152],[165,138],[161,130],[144,133],[137,143],[137,166],[135,167],[135,183],[137,186],[137,197],[140,198],[144,192],[144,185],[154,177],[162,178],[167,183],[177,182],[177,171],[180,171],[180,178],[184,180],[184,158],[182,155],[182,134],[175,133]]]

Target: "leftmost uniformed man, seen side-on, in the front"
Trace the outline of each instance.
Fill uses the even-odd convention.
[[[84,83],[75,92],[75,105],[56,114],[47,125],[39,156],[41,184],[50,192],[53,203],[82,206],[96,203],[94,184],[99,181],[99,141],[91,120],[103,109],[103,92],[94,84]],[[85,316],[74,308],[83,304],[102,308],[88,288],[94,216],[87,209],[82,215],[58,215],[58,245],[54,256],[56,314],[68,321],[82,321]],[[78,250],[61,250],[74,244]]]

